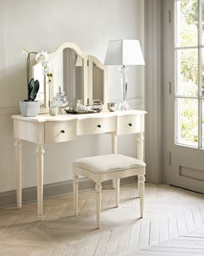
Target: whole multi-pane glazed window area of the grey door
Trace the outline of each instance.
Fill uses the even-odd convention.
[[[175,0],[175,143],[204,147],[204,0]]]

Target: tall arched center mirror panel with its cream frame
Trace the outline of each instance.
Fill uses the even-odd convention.
[[[64,43],[53,54],[53,79],[50,87],[50,101],[65,92],[69,106],[76,106],[77,100],[87,103],[87,57],[74,43]]]

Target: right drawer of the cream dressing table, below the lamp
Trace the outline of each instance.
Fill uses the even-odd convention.
[[[142,115],[118,116],[117,135],[127,135],[143,132]]]

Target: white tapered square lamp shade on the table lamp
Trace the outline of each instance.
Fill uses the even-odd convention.
[[[105,65],[144,65],[138,40],[114,40],[108,43]]]

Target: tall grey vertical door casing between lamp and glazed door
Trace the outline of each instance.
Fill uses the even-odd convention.
[[[144,3],[147,181],[163,181],[163,0]]]

